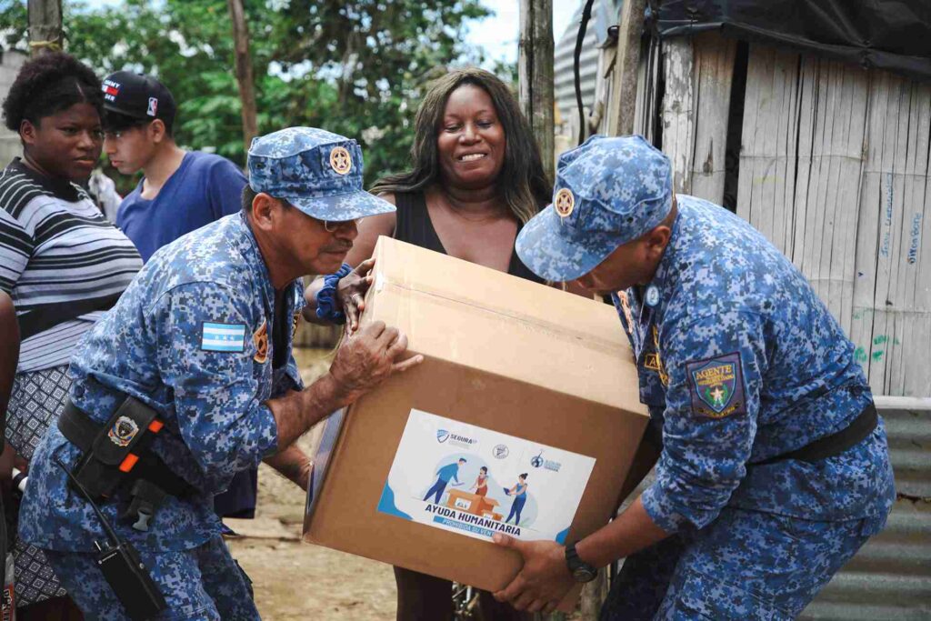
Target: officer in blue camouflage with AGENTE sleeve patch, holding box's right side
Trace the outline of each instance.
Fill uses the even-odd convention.
[[[662,449],[654,483],[596,533],[565,548],[502,537],[524,566],[496,597],[551,609],[627,557],[602,619],[793,618],[884,525],[884,425],[792,263],[671,188],[642,138],[593,137],[560,157],[553,205],[520,233],[541,277],[611,294]]]

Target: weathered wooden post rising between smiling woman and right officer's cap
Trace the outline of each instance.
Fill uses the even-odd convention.
[[[553,1],[520,0],[518,56],[520,108],[540,146],[543,169],[553,181]]]

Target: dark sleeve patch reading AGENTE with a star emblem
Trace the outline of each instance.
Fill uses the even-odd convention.
[[[708,418],[747,413],[740,353],[685,363],[692,412]]]

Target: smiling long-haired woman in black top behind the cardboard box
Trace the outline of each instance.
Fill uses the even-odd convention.
[[[514,251],[520,227],[550,200],[540,151],[510,89],[486,71],[447,74],[426,94],[415,121],[413,169],[375,183],[398,210],[366,218],[346,263],[369,259],[378,236],[443,252],[540,282]],[[314,319],[318,287],[307,288]],[[346,309],[350,324],[356,316]],[[359,309],[361,310],[361,309]],[[310,311],[310,312],[307,312]],[[350,325],[350,328],[353,326]],[[449,580],[395,568],[398,619],[452,619]],[[481,593],[487,621],[530,618]]]

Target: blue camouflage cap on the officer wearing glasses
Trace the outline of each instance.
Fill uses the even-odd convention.
[[[344,222],[395,210],[362,189],[358,142],[325,129],[287,128],[252,139],[249,184],[317,220]]]

